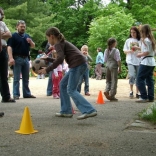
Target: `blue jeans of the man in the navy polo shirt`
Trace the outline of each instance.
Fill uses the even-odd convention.
[[[23,97],[30,96],[29,89],[29,59],[16,56],[14,58],[15,65],[13,67],[14,82],[13,82],[13,96],[20,96],[20,73],[22,73],[22,90]]]

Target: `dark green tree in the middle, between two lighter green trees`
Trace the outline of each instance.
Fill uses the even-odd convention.
[[[99,0],[48,0],[52,13],[56,13],[56,25],[79,48],[87,43],[90,22],[99,11]],[[58,5],[60,4],[60,5]]]

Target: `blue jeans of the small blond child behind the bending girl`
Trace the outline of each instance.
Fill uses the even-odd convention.
[[[84,92],[85,94],[89,92],[89,69],[87,68],[85,73],[81,76],[79,80],[79,85],[77,87],[78,92],[81,92],[81,85],[84,80]]]

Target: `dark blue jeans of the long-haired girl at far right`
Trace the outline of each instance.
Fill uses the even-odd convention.
[[[137,87],[141,93],[141,98],[145,100],[154,100],[153,70],[154,66],[139,66],[139,71],[137,75]]]

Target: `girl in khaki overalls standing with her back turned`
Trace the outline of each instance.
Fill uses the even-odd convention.
[[[117,92],[118,73],[121,72],[120,52],[116,49],[117,41],[109,38],[107,49],[104,52],[104,62],[106,63],[106,89],[104,95],[110,101],[118,101],[115,98]]]

